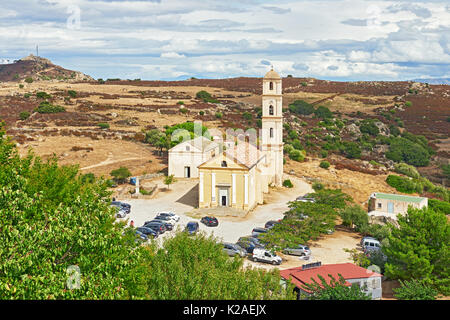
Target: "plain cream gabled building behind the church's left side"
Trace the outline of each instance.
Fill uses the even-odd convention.
[[[169,150],[169,175],[198,178],[198,166],[219,152],[219,144],[205,137],[182,142]]]

